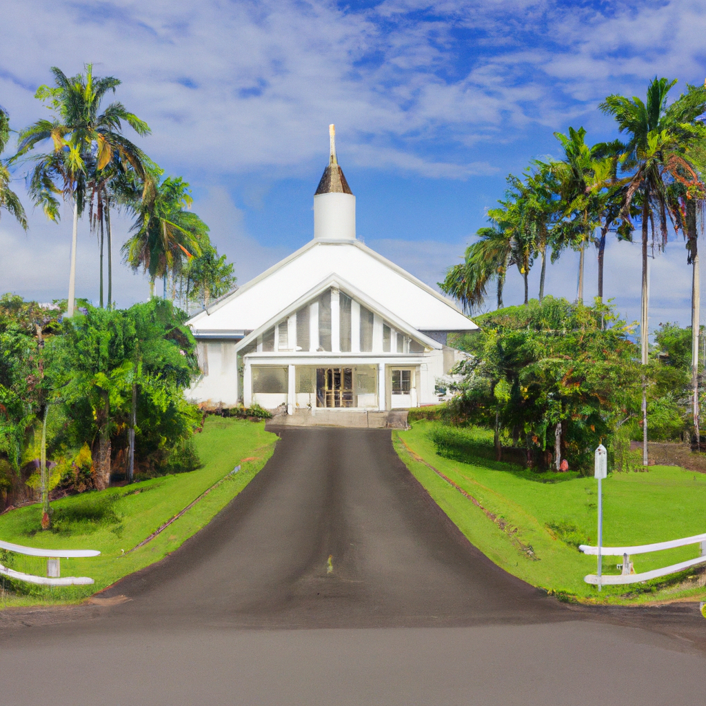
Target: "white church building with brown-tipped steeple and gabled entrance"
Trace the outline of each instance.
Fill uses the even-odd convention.
[[[448,333],[477,325],[357,240],[355,213],[332,125],[313,240],[189,320],[202,372],[192,399],[294,415],[438,402],[436,382],[461,356]]]

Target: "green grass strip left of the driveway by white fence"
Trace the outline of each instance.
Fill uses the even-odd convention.
[[[251,481],[272,455],[277,436],[265,431],[264,422],[208,417],[194,441],[203,462],[201,469],[62,498],[52,503],[52,531],[37,530],[39,505],[1,515],[0,539],[6,542],[41,548],[97,549],[101,555],[61,559],[62,576],[90,576],[95,585],[37,587],[11,582],[12,592],[0,594],[0,607],[75,602],[159,561],[208,524]],[[241,470],[227,475],[239,463]],[[130,551],[226,476],[164,532]],[[0,557],[0,563],[25,573],[46,575],[46,559],[6,554]]]

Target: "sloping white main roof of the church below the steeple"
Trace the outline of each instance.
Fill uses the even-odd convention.
[[[478,328],[452,301],[357,240],[310,241],[198,313],[189,325],[197,336],[255,330],[331,276],[349,282],[417,330]]]

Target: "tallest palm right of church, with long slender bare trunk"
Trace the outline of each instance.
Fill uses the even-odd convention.
[[[642,364],[647,365],[647,245],[649,223],[657,220],[661,246],[666,244],[667,220],[678,211],[669,193],[669,184],[683,178],[681,170],[693,172],[685,152],[705,138],[705,128],[697,123],[706,110],[706,88],[691,88],[669,106],[667,97],[676,80],[654,78],[647,87],[647,101],[610,95],[601,104],[606,114],[614,116],[618,130],[628,140],[621,160],[628,183],[623,197],[621,217],[630,219],[630,206],[637,197],[642,225],[642,302],[640,307],[640,342]],[[657,218],[655,219],[655,215]],[[654,238],[654,225],[652,229]],[[697,327],[698,328],[698,327]],[[647,383],[642,376],[642,463],[647,465]]]

